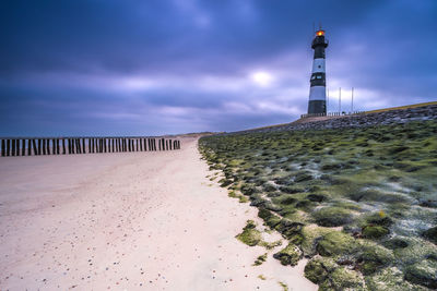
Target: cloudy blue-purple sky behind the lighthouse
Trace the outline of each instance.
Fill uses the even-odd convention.
[[[3,0],[0,136],[286,123],[321,23],[328,110],[437,100],[435,0]]]

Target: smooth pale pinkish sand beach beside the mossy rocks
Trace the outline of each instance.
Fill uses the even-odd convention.
[[[261,225],[257,209],[210,173],[193,137],[167,153],[1,158],[0,290],[317,290],[305,260],[270,251],[252,266],[265,248],[235,235]]]

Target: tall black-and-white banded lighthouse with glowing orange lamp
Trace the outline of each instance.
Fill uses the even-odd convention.
[[[316,32],[311,43],[315,50],[312,62],[312,73],[310,78],[308,114],[327,113],[327,78],[324,69],[324,49],[328,47],[328,40],[324,38],[324,31],[321,28]]]

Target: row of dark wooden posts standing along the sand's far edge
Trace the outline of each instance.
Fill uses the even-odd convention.
[[[0,140],[2,157],[180,149],[180,141],[163,137],[35,137]]]

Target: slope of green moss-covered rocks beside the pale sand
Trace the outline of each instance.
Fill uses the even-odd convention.
[[[437,289],[437,122],[202,137],[320,290]]]

